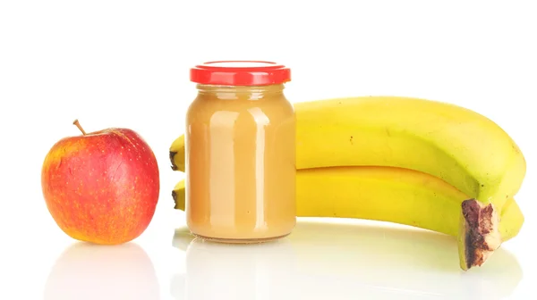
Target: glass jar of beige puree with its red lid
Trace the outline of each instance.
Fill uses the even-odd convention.
[[[269,62],[211,62],[191,70],[186,116],[186,219],[192,234],[250,243],[286,237],[296,222],[290,70]]]

